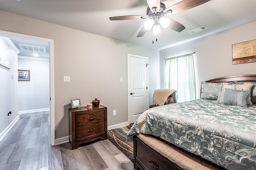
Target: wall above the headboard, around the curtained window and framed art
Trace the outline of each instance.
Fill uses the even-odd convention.
[[[256,39],[255,30],[256,22],[252,22],[161,50],[160,87],[164,87],[164,58],[192,52],[195,52],[197,98],[200,98],[201,81],[224,76],[256,74],[256,63],[232,64],[232,44]]]

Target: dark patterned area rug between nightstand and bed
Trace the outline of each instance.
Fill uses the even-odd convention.
[[[121,152],[123,152],[132,162],[133,158],[133,142],[126,142],[126,135],[131,129],[129,126],[120,127],[108,131],[108,140],[110,140]]]

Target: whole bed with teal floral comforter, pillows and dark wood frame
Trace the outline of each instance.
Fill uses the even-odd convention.
[[[201,98],[142,113],[126,140],[134,168],[256,169],[256,75],[202,82]]]

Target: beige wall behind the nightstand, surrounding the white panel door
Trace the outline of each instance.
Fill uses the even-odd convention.
[[[152,103],[159,88],[159,51],[4,11],[0,16],[0,30],[54,40],[55,138],[68,136],[68,108],[74,98],[82,106],[98,98],[108,107],[108,126],[128,121],[128,53],[148,57]],[[63,82],[63,76],[70,76],[70,82]]]

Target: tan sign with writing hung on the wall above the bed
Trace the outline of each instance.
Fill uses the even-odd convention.
[[[232,45],[233,64],[256,62],[256,40]]]

